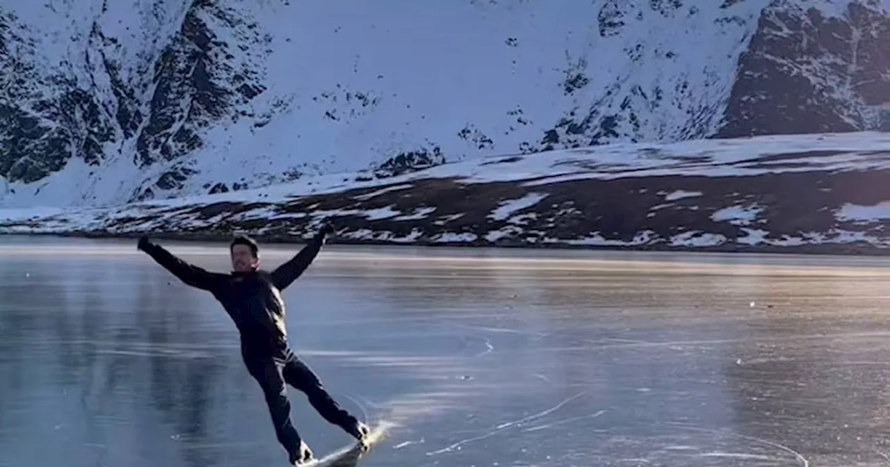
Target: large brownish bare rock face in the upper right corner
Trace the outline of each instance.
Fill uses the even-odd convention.
[[[719,137],[890,131],[890,17],[878,1],[842,16],[776,0],[742,54]]]

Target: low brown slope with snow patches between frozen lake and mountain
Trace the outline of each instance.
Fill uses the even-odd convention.
[[[890,134],[613,144],[482,157],[368,180],[82,210],[0,210],[0,232],[264,239],[333,221],[354,242],[880,251],[890,246]]]

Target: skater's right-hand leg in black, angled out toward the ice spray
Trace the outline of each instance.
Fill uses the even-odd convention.
[[[328,423],[339,426],[355,439],[361,439],[366,434],[362,430],[364,425],[360,424],[355,416],[345,411],[343,407],[340,407],[331,398],[328,391],[321,384],[319,377],[312,372],[312,369],[303,360],[295,355],[291,355],[290,358],[287,358],[281,373],[284,375],[284,380],[287,384],[306,394],[312,407],[315,407],[315,410]]]

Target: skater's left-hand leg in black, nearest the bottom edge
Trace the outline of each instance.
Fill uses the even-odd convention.
[[[302,458],[299,433],[290,421],[290,402],[287,400],[287,386],[281,374],[280,364],[271,358],[268,360],[247,361],[247,371],[260,383],[263,396],[269,407],[275,437],[287,451],[290,463],[304,462]]]

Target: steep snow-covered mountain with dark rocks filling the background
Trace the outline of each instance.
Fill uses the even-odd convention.
[[[890,126],[890,0],[0,3],[0,206]]]

